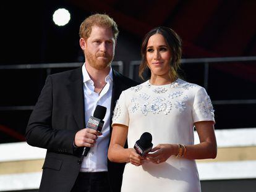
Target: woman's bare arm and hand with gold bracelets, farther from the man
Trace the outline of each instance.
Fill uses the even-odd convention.
[[[214,159],[217,154],[217,144],[212,121],[195,122],[199,136],[199,144],[186,145],[184,158],[187,159]],[[183,144],[183,143],[180,143]],[[158,144],[152,149],[153,154],[147,157],[154,163],[165,162],[171,155],[179,152],[178,144]]]

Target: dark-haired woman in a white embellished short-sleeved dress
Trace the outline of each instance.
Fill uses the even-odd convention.
[[[108,158],[127,162],[123,192],[201,191],[195,159],[216,157],[213,107],[204,88],[178,78],[181,52],[171,28],[148,32],[139,73],[148,67],[150,80],[123,91],[117,101]],[[142,157],[134,144],[144,132],[151,133],[153,149]]]

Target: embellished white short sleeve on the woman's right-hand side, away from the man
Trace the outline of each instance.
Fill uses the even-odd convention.
[[[193,121],[200,122],[203,120],[211,120],[215,123],[213,105],[204,88],[200,88],[195,93],[194,104],[192,106]]]

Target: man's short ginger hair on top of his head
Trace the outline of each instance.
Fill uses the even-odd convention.
[[[106,14],[94,14],[83,20],[79,30],[80,38],[84,38],[85,40],[89,38],[92,33],[92,27],[95,25],[98,27],[112,28],[114,39],[117,39],[119,30],[116,22],[114,22],[114,20]]]

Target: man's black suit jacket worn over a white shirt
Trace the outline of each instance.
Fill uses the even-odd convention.
[[[135,81],[113,70],[111,117],[121,92],[135,85]],[[75,133],[83,128],[85,109],[81,67],[49,75],[26,130],[28,144],[47,149],[40,191],[72,189],[83,159],[83,148],[74,148],[73,143]],[[123,170],[124,164],[108,161],[112,191],[121,190]]]

